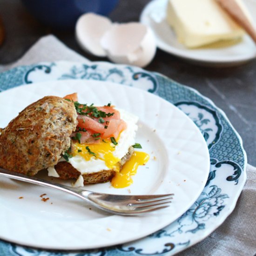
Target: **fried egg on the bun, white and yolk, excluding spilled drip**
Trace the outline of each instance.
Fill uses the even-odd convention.
[[[126,122],[127,128],[121,132],[114,145],[110,138],[95,144],[83,144],[76,142],[72,148],[72,157],[69,163],[76,168],[81,175],[95,173],[101,170],[120,170],[121,158],[128,153],[128,148],[135,144],[135,133],[138,117],[119,109],[121,119]],[[88,150],[89,148],[89,150]],[[81,186],[82,179],[75,185]],[[78,184],[77,184],[78,183]]]

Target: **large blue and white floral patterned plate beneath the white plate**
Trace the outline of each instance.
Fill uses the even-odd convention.
[[[212,101],[161,74],[138,67],[89,61],[59,61],[13,68],[0,74],[0,91],[25,83],[64,79],[113,81],[147,90],[175,104],[195,122],[207,142],[211,161],[208,181],[187,212],[166,228],[135,242],[80,252],[53,252],[0,241],[2,255],[172,255],[201,241],[229,216],[246,181],[247,158],[240,136]]]

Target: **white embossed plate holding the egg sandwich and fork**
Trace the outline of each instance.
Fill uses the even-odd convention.
[[[154,94],[106,81],[24,85],[0,93],[0,127],[45,95],[73,92],[78,92],[82,103],[102,105],[111,101],[138,115],[136,142],[150,155],[130,187],[115,189],[107,182],[84,189],[127,195],[175,193],[173,202],[166,209],[143,216],[117,216],[59,191],[0,178],[0,238],[44,249],[98,248],[151,234],[189,209],[209,175],[207,144],[187,115]],[[43,194],[49,198],[46,202],[41,200]]]

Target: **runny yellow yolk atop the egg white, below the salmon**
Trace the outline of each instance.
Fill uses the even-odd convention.
[[[113,155],[115,145],[110,139],[105,139],[104,141],[95,144],[74,143],[72,155],[81,155],[86,161],[89,161],[92,157],[96,157],[104,161],[109,169],[118,172],[120,170],[119,162],[121,159]]]

